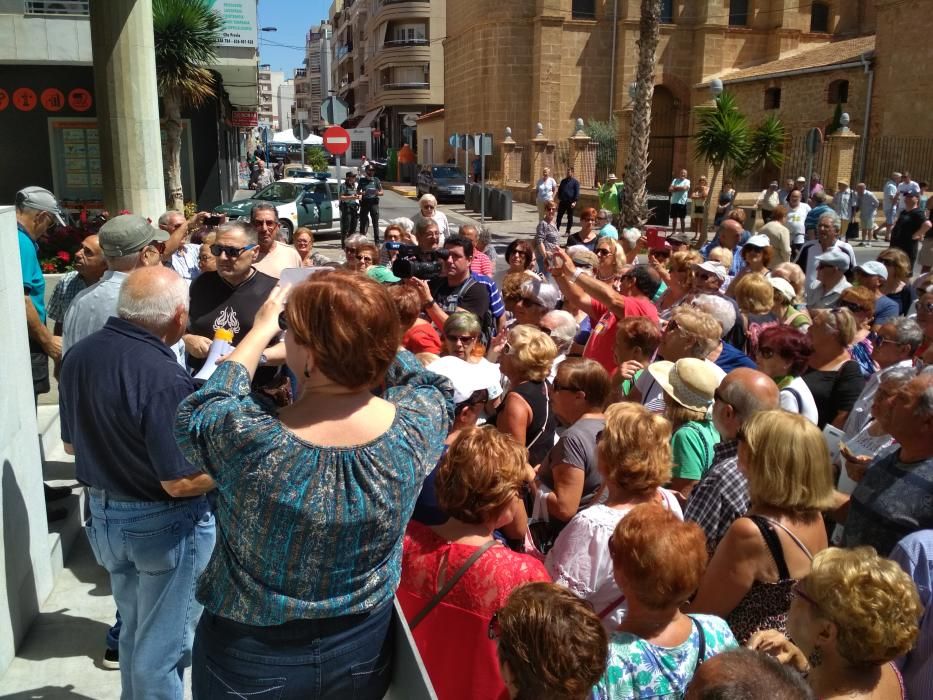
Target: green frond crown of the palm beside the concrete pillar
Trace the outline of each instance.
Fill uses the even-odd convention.
[[[207,0],[152,0],[159,92],[198,106],[214,94],[207,66],[217,61],[223,19]]]

